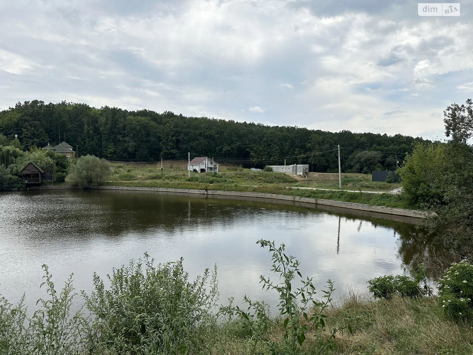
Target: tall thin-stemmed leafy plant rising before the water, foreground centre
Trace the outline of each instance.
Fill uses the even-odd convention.
[[[253,302],[247,296],[244,297],[244,302],[248,304],[246,311],[230,302],[228,306],[222,306],[220,312],[229,317],[237,315],[241,319],[254,342],[254,353],[257,353],[256,349],[260,349],[269,351],[272,355],[300,354],[309,331],[314,333],[315,354],[333,349],[335,334],[345,329],[352,332],[348,320],[331,330],[325,327],[323,312],[332,302],[332,293],[335,290],[333,282],[327,281],[326,290],[322,291],[324,301],[320,302],[315,299],[316,291],[312,278],[302,277],[299,271],[300,262],[284,253],[284,244],[276,247],[274,241],[269,240],[258,240],[257,244],[262,248],[268,247],[272,252],[271,271],[279,275],[281,280],[280,283],[275,283],[269,277],[260,276],[263,289],[271,289],[279,294],[279,317],[272,319],[269,316],[269,307],[264,302]],[[301,287],[294,289],[292,283],[297,276]],[[278,328],[282,339],[274,340],[269,337],[268,330],[271,328]]]

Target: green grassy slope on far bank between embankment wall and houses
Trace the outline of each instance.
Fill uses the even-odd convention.
[[[360,192],[347,192],[338,189],[338,180],[331,180],[337,174],[317,173],[308,179],[301,180],[292,175],[250,171],[239,167],[221,169],[219,173],[191,172],[179,168],[164,168],[162,173],[157,165],[132,165],[125,163],[112,163],[113,175],[106,182],[111,186],[149,186],[210,189],[223,191],[261,192],[280,195],[294,195],[301,197],[323,198],[336,201],[356,202],[387,207],[409,208],[400,195],[370,194]],[[327,179],[329,177],[330,179]],[[317,178],[318,180],[309,180]],[[342,189],[363,191],[389,191],[399,187],[399,184],[385,182],[372,182],[371,176],[363,174],[343,174]],[[310,183],[311,185],[307,185]],[[305,184],[305,185],[304,185]],[[333,191],[299,189],[297,187],[320,187],[333,189]]]

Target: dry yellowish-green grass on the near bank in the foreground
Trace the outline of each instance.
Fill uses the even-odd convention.
[[[444,316],[436,297],[373,301],[361,296],[347,296],[325,313],[327,328],[351,317],[353,334],[337,334],[333,355],[470,355],[473,354],[471,321],[457,323]],[[251,354],[251,343],[238,323],[220,330],[215,354]],[[272,332],[272,339],[280,334]],[[314,346],[307,334],[306,354]]]

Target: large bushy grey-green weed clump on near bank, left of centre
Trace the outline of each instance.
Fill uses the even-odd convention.
[[[210,275],[188,281],[183,259],[153,265],[145,253],[142,262],[130,262],[107,275],[110,289],[94,274],[95,292],[86,307],[99,329],[99,347],[114,354],[198,354],[215,326],[217,266]],[[207,282],[210,279],[210,284]],[[209,287],[208,287],[209,286]],[[206,344],[206,345],[205,345]]]

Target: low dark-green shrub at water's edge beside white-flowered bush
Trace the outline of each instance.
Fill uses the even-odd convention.
[[[426,282],[423,288],[420,287],[419,282],[421,280],[425,282],[425,275],[420,279],[412,279],[405,275],[384,275],[368,280],[367,283],[369,292],[372,292],[375,298],[389,300],[394,294],[409,298],[431,295],[432,290]]]

